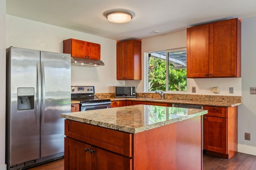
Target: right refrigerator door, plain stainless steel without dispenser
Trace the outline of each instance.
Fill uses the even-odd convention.
[[[64,119],[71,109],[70,54],[41,51],[41,157],[64,152]]]

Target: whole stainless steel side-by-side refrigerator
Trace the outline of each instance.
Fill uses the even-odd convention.
[[[70,54],[6,49],[6,164],[19,169],[64,155]]]

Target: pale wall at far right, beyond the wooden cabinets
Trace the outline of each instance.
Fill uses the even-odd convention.
[[[242,99],[238,107],[238,150],[256,155],[256,17],[242,20]],[[244,133],[251,133],[251,140],[244,140]]]

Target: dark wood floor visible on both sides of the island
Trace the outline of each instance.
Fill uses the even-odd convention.
[[[30,170],[64,170],[64,159],[31,168]],[[203,170],[256,170],[256,156],[239,152],[230,159],[204,155]]]

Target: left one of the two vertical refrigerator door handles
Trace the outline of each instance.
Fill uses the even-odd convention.
[[[36,111],[36,127],[40,127],[40,109],[41,109],[41,72],[40,62],[37,63],[37,111]]]

